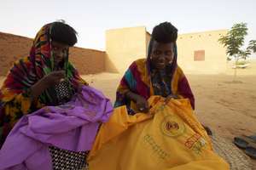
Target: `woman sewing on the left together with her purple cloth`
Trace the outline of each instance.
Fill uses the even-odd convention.
[[[29,56],[10,69],[0,91],[0,169],[85,166],[98,126],[113,109],[68,61],[76,34],[63,22],[43,26]]]

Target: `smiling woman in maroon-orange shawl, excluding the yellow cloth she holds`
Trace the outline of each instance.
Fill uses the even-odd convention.
[[[129,114],[148,112],[152,95],[188,98],[195,108],[194,95],[182,69],[177,65],[177,28],[169,22],[155,26],[147,59],[134,61],[122,78],[114,106],[127,105]]]

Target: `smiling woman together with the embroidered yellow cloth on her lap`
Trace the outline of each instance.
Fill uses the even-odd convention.
[[[171,23],[154,27],[147,59],[134,61],[119,84],[113,115],[90,150],[90,169],[229,169],[192,110],[176,40]]]

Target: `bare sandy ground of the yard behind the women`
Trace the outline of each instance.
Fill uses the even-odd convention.
[[[250,74],[239,70],[236,82],[232,82],[232,75],[187,75],[199,120],[230,142],[237,135],[256,134],[256,69],[248,71]],[[101,73],[83,77],[114,101],[121,75]],[[253,165],[256,167],[256,161]]]

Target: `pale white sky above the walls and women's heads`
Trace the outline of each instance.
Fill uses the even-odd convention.
[[[246,43],[256,39],[255,0],[0,0],[0,31],[35,37],[44,24],[66,20],[81,48],[105,49],[105,31],[169,21],[178,33],[230,29],[246,22]]]

